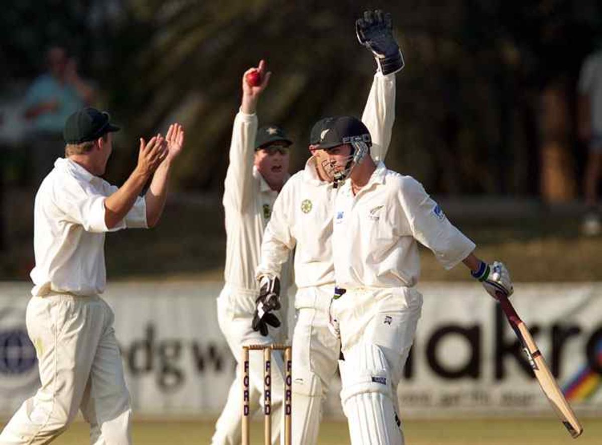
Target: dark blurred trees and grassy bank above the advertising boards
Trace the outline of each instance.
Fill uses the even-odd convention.
[[[388,167],[424,183],[516,281],[600,280],[602,238],[579,237],[586,147],[576,135],[579,70],[602,42],[599,1],[20,0],[0,14],[0,116],[20,113],[58,45],[123,128],[110,182],[134,168],[139,137],[183,123],[178,193],[154,233],[108,237],[108,272],[220,280],[220,200],[243,72],[267,60],[259,121],[287,129],[291,173],[299,170],[318,118],[361,115],[376,69],[355,37],[367,8],[393,15],[406,60]],[[28,279],[33,267],[28,150],[26,138],[0,146],[0,279]],[[421,263],[426,280],[465,278],[424,250]]]

